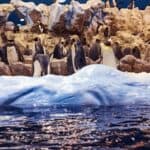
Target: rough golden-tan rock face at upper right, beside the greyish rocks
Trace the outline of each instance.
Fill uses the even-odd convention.
[[[112,14],[106,17],[106,21],[113,41],[119,41],[123,47],[136,45],[141,50],[145,50],[145,43],[150,40],[149,7],[145,10],[135,8],[121,9],[119,12],[114,9],[105,9],[105,11]]]

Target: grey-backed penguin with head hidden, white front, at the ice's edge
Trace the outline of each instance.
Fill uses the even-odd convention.
[[[34,77],[50,74],[49,56],[44,54],[36,54],[33,58],[32,71]]]

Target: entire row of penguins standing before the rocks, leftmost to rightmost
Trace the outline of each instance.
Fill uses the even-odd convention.
[[[117,68],[120,60],[126,55],[133,55],[141,59],[140,49],[137,46],[122,48],[118,42],[113,42],[110,37],[101,41],[98,36],[94,36],[91,43],[88,43],[84,36],[61,37],[55,43],[51,53],[47,52],[48,50],[45,49],[39,37],[34,39],[34,50],[27,45],[24,53],[16,44],[14,34],[5,35],[2,32],[1,39],[3,41],[0,48],[1,61],[10,66],[16,62],[24,63],[24,55],[30,55],[32,56],[32,75],[35,77],[53,74],[52,63],[54,60],[59,63],[65,60],[67,75],[71,75],[90,64],[104,64]],[[57,67],[61,66],[58,65]],[[63,68],[59,70],[63,70]]]

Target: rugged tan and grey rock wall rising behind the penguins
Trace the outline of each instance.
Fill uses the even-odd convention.
[[[27,25],[20,27],[20,32],[14,33],[16,44],[21,52],[24,52],[26,46],[29,45],[34,54],[34,39],[40,37],[46,52],[51,53],[59,38],[70,34],[84,35],[89,45],[93,37],[101,41],[111,38],[112,43],[118,42],[122,49],[137,46],[142,55],[150,43],[150,7],[145,10],[138,8],[119,10],[116,7],[104,8],[101,1],[95,0],[89,0],[86,4],[72,1],[70,5],[61,5],[56,1],[50,6],[12,0],[11,4],[0,5],[2,17],[0,23],[3,24],[6,16],[14,10],[17,10],[27,22]],[[45,30],[40,29],[39,21]],[[6,29],[13,30],[13,23],[7,22]],[[107,37],[105,37],[106,29],[108,29]],[[1,39],[0,45],[2,45]],[[87,62],[91,64],[88,59]],[[59,63],[55,65],[59,66]],[[65,64],[62,68],[66,68],[64,66]],[[139,60],[134,66],[121,62],[120,68],[122,71],[129,72],[149,72],[149,64]],[[52,70],[57,74],[61,69],[52,67]]]

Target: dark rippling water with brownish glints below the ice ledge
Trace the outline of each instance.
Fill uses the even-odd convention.
[[[0,108],[0,149],[150,149],[150,105]]]

